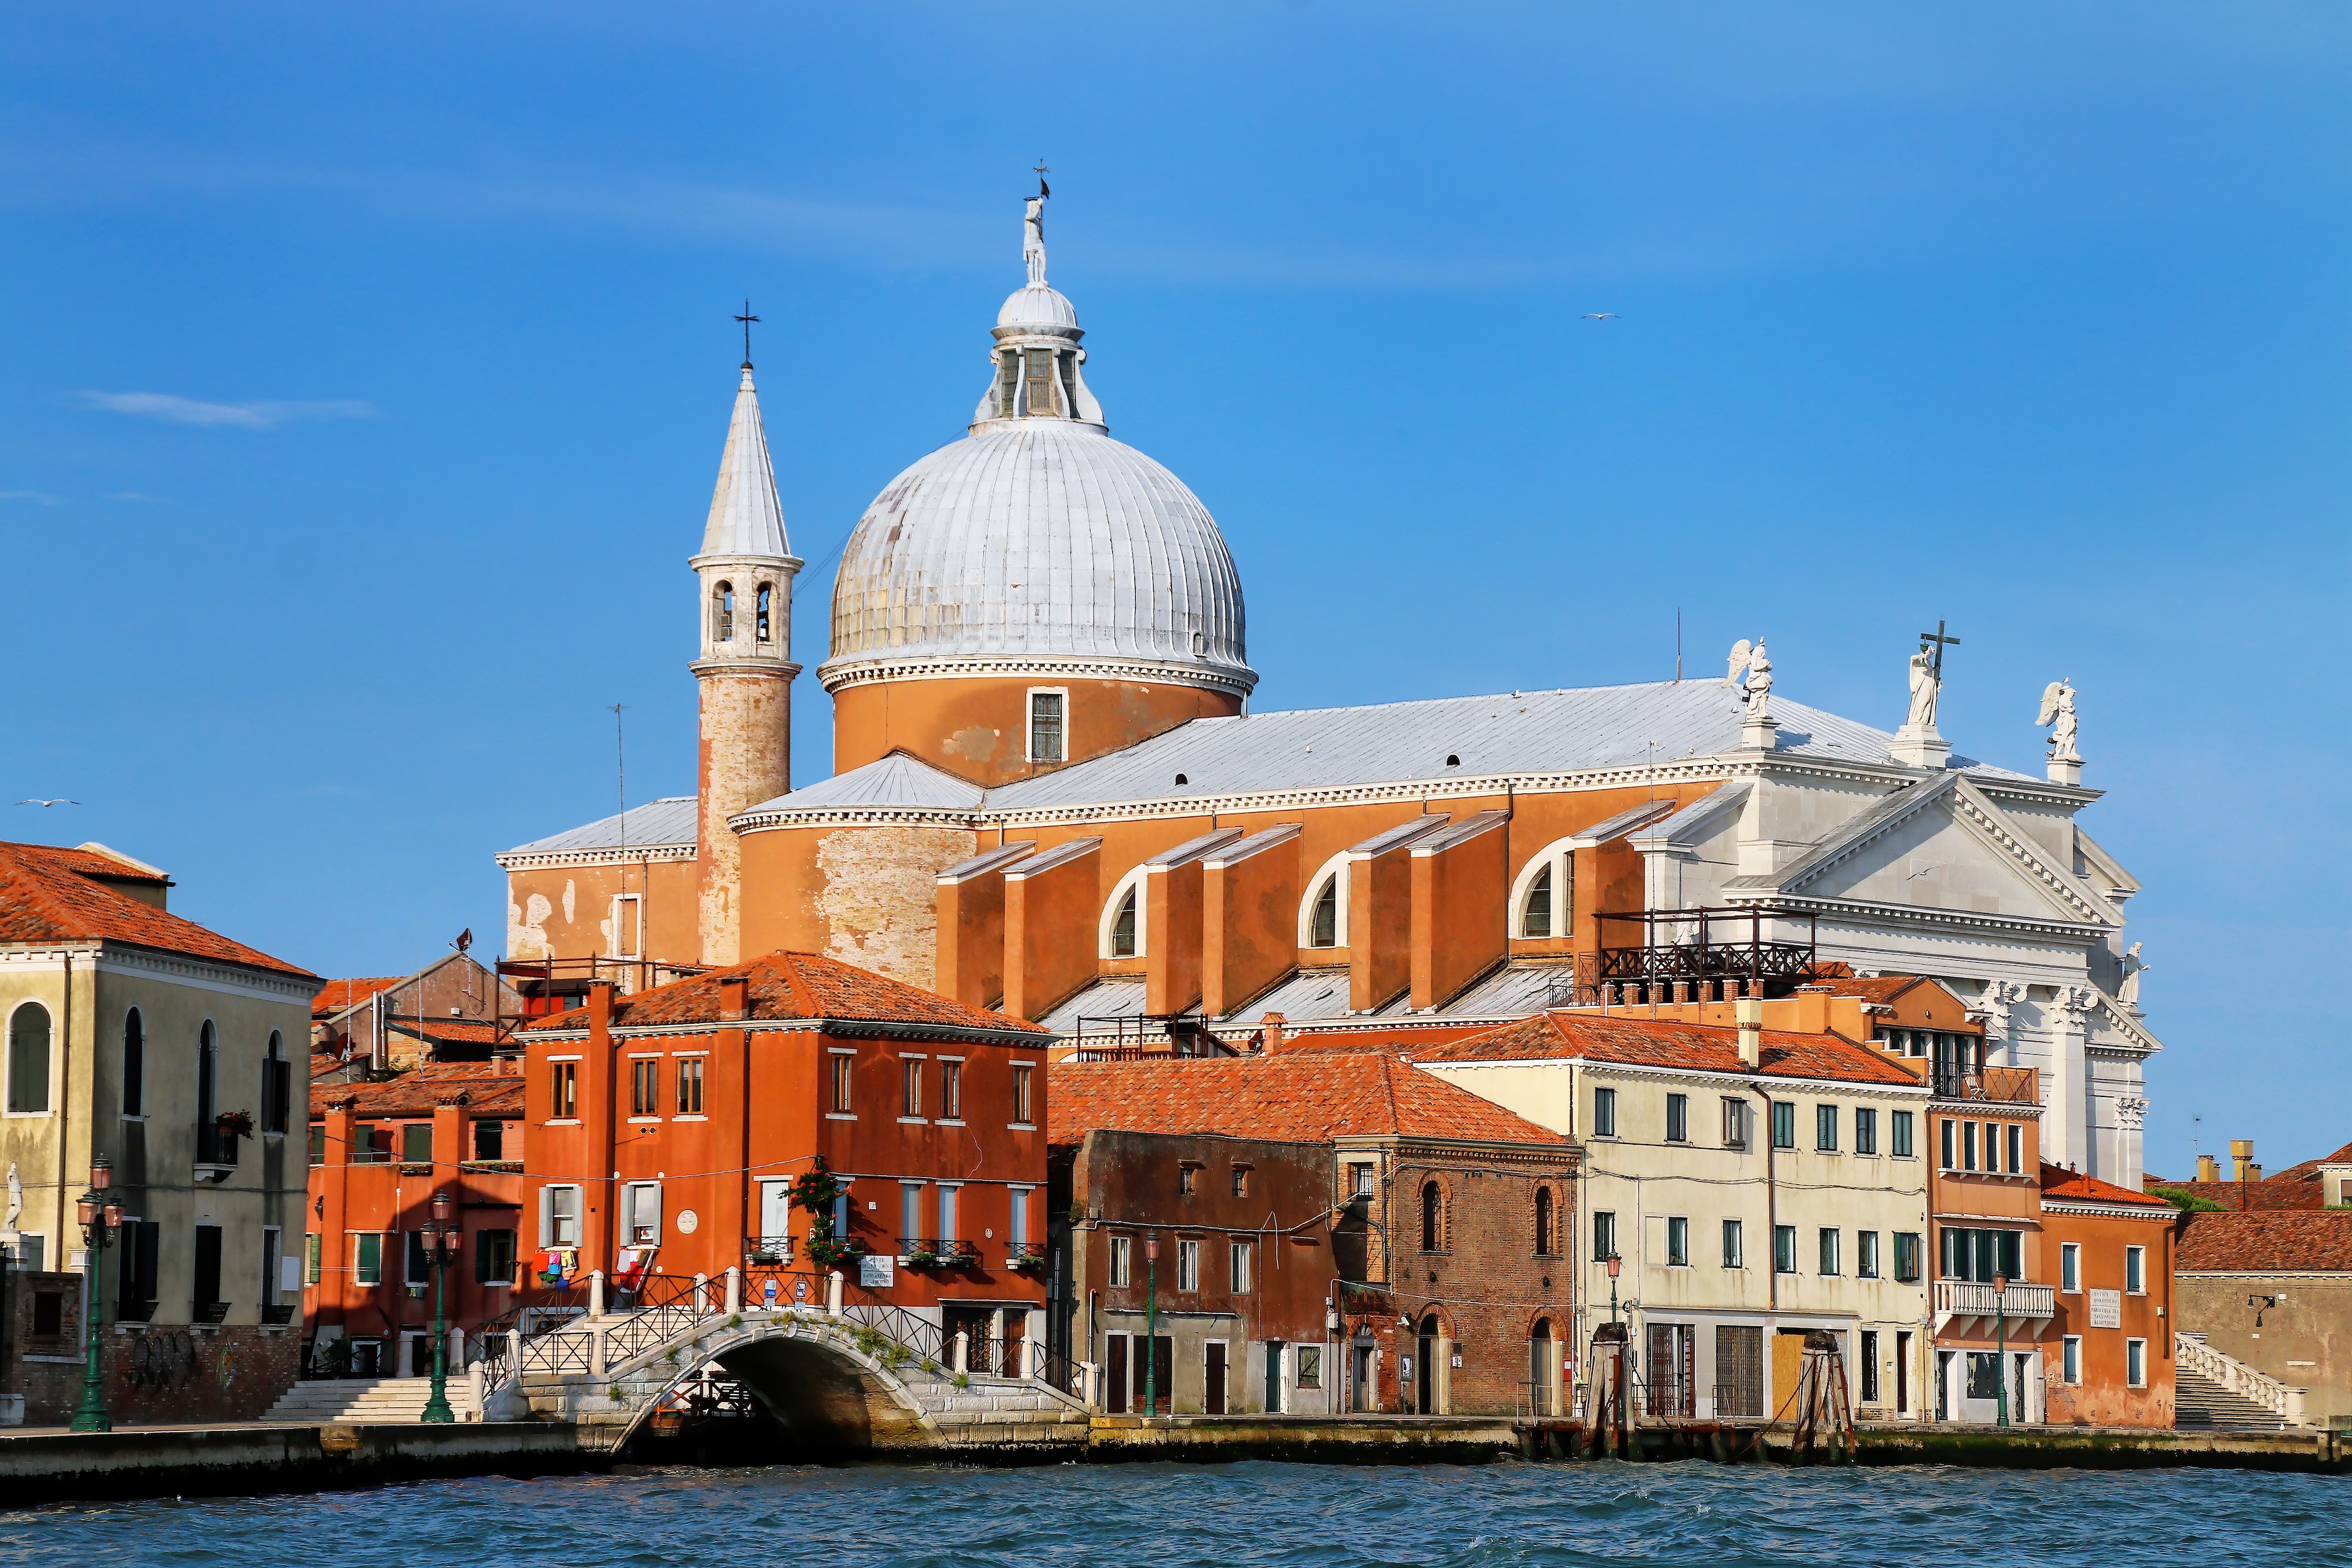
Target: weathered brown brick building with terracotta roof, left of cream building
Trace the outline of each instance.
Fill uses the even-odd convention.
[[[1054,1145],[1056,1333],[1105,1408],[1141,1408],[1155,1291],[1164,1410],[1559,1408],[1571,1140],[1395,1056],[1277,1051],[1061,1063]]]

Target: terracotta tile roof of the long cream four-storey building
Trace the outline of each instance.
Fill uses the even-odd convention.
[[[1691,1072],[1745,1072],[1740,1034],[1712,1023],[1670,1018],[1616,1018],[1602,1013],[1531,1013],[1486,1034],[1423,1046],[1414,1063],[1494,1063],[1581,1058],[1637,1067],[1684,1067]],[[1837,1079],[1849,1084],[1898,1084],[1919,1088],[1917,1074],[1893,1060],[1835,1034],[1788,1034],[1764,1030],[1764,1077]]]

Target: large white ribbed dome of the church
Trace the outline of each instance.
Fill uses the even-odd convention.
[[[1258,677],[1242,644],[1242,578],[1183,480],[1098,425],[1014,418],[941,447],[866,508],[818,679],[830,691],[908,658],[1112,661],[1247,693]]]

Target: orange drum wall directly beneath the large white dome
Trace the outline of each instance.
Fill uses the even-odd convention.
[[[903,750],[981,785],[1049,773],[1058,764],[1028,762],[1028,698],[1037,686],[1070,693],[1065,762],[1115,752],[1188,719],[1242,712],[1237,696],[1152,682],[1061,675],[866,682],[833,693],[833,769],[847,773]]]

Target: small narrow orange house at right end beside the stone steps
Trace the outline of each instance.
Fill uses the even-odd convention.
[[[2042,1345],[2051,1425],[2173,1425],[2176,1218],[2164,1199],[2042,1166],[2042,1262],[2058,1284]]]

